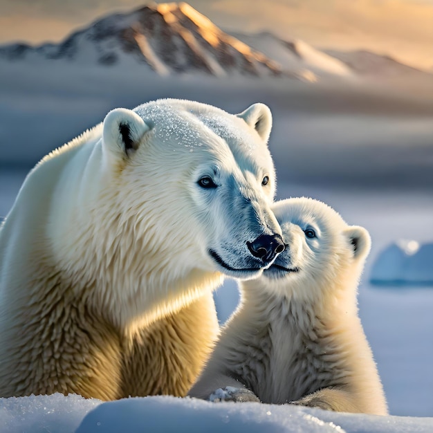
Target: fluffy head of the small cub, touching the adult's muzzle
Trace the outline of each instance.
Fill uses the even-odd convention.
[[[302,298],[358,284],[371,246],[365,228],[347,225],[329,205],[305,197],[277,201],[273,212],[286,250],[264,271],[266,287]]]

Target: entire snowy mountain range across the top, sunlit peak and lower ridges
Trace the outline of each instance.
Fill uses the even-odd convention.
[[[187,3],[160,3],[113,14],[59,44],[0,46],[3,62],[128,68],[156,75],[371,78],[433,85],[433,75],[369,51],[319,50],[271,33],[225,33]]]

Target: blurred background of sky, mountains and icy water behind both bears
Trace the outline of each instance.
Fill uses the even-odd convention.
[[[433,416],[433,0],[2,0],[0,218],[45,154],[158,98],[268,104],[277,198],[371,234],[360,315],[391,414]],[[216,293],[221,322],[237,300]]]

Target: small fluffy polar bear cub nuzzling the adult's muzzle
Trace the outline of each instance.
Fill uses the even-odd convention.
[[[241,302],[189,395],[387,414],[356,302],[369,233],[313,199],[273,211],[287,248],[240,282]]]

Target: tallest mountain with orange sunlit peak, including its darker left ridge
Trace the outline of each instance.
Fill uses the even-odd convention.
[[[270,59],[216,27],[187,3],[160,3],[114,14],[73,33],[64,42],[32,47],[12,44],[0,57],[78,64],[147,66],[158,75],[286,75]]]

